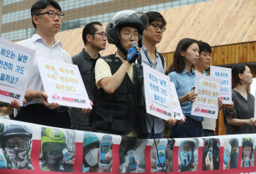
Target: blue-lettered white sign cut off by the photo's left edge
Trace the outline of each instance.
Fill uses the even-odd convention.
[[[0,50],[0,101],[22,106],[36,52],[1,38]]]

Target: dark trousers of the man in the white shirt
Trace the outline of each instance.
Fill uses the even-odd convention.
[[[50,110],[42,104],[32,104],[26,107],[20,107],[18,115],[14,119],[31,124],[70,129],[70,118],[67,107],[61,107],[61,109]]]

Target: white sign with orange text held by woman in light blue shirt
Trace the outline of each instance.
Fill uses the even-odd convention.
[[[206,75],[197,75],[195,93],[198,93],[192,104],[191,115],[207,118],[218,118],[218,97],[222,80]]]

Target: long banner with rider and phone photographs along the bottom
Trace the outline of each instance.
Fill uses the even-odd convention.
[[[256,173],[256,135],[138,139],[1,119],[1,173]]]

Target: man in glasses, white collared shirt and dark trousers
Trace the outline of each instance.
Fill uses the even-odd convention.
[[[61,29],[64,13],[61,12],[61,7],[56,1],[39,0],[31,7],[31,18],[37,34],[18,44],[37,52],[26,89],[26,104],[20,108],[15,120],[69,129],[68,107],[60,106],[56,102],[47,102],[48,95],[42,86],[37,67],[37,56],[72,64],[69,53],[63,50],[61,42],[55,39],[55,34]],[[87,111],[89,109],[80,109],[80,113],[83,114]]]

